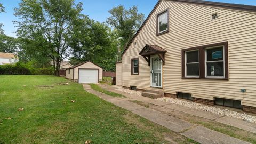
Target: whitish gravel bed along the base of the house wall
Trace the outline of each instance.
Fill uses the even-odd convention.
[[[170,102],[173,104],[182,105],[182,106],[186,106],[189,108],[195,108],[195,109],[200,109],[200,110],[204,110],[204,111],[209,111],[214,114],[220,114],[223,116],[229,116],[229,117],[233,117],[233,118],[237,118],[237,119],[242,119],[244,121],[256,123],[256,116],[248,115],[245,113],[238,113],[237,111],[233,111],[233,110],[217,108],[217,107],[212,107],[212,106],[205,106],[205,105],[195,103],[195,102],[189,102],[189,101],[185,101],[185,100],[181,100],[181,99],[173,99],[173,98],[166,98],[166,97],[158,98],[156,100]]]

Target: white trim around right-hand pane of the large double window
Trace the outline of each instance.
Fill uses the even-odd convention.
[[[217,47],[221,47],[222,46],[222,52],[223,52],[223,60],[218,60],[218,61],[207,61],[207,49],[214,49]],[[206,47],[204,49],[204,58],[205,58],[205,62],[204,62],[204,68],[205,68],[205,78],[225,78],[225,49],[224,49],[224,45],[219,45],[219,46],[214,46],[214,47]],[[207,75],[207,63],[211,63],[211,62],[223,62],[223,76],[208,76]]]

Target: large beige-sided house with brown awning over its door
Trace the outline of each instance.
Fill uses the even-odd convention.
[[[256,6],[160,0],[123,52],[117,82],[256,113],[255,46]]]

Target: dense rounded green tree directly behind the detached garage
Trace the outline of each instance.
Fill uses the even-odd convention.
[[[91,60],[107,71],[115,70],[117,37],[105,23],[84,17],[73,35],[71,62]]]

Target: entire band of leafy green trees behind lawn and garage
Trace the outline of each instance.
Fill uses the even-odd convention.
[[[82,10],[82,3],[75,0],[21,0],[14,8],[18,37],[5,35],[0,23],[0,52],[18,53],[19,61],[37,68],[51,66],[55,75],[67,59],[74,65],[91,60],[105,71],[115,71],[120,53],[141,26],[144,14],[137,6],[119,5],[109,10],[105,23],[90,19]]]

